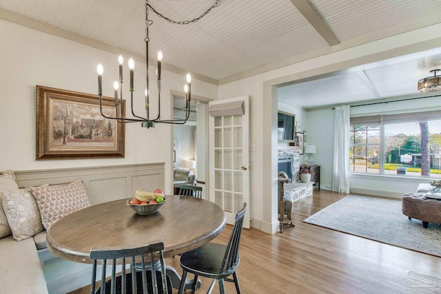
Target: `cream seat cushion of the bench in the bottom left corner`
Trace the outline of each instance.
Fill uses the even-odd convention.
[[[0,275],[1,293],[48,293],[34,239],[17,242],[8,236],[0,239],[0,264],[7,275]]]

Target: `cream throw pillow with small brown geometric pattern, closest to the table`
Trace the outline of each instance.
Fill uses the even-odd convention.
[[[30,191],[37,200],[41,222],[46,230],[63,216],[90,207],[88,193],[81,180],[68,185],[30,187]]]

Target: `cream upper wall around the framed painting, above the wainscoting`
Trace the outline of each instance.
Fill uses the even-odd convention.
[[[35,86],[95,94],[96,65],[101,62],[105,70],[103,94],[112,97],[112,83],[118,76],[117,54],[3,20],[0,20],[0,39],[0,171],[165,162],[165,193],[172,193],[172,125],[158,124],[153,129],[145,129],[141,123],[127,124],[125,158],[35,160]],[[127,61],[130,56],[124,57]],[[135,62],[134,94],[135,98],[139,98],[135,107],[143,109],[141,97],[145,89],[145,63]],[[150,67],[150,76],[154,76],[155,70],[155,67]],[[128,76],[125,67],[124,98],[129,96]],[[184,84],[185,76],[163,71],[163,118],[172,117],[170,92],[182,91]],[[216,85],[195,79],[192,84],[195,95],[217,97]],[[152,97],[156,97],[155,91],[152,89]],[[156,109],[154,101],[152,107]],[[129,112],[130,103],[127,103]],[[156,116],[156,112],[152,116]]]

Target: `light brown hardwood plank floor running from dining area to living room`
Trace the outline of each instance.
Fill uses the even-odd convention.
[[[237,271],[242,293],[441,293],[441,258],[302,222],[345,196],[320,190],[294,202],[296,227],[284,233],[244,229]],[[214,241],[227,243],[231,228]],[[178,256],[167,265],[181,273]],[[201,281],[198,293],[206,293],[211,281]],[[233,283],[225,286],[236,293]]]

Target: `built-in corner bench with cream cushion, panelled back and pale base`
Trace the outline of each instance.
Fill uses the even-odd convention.
[[[81,178],[92,205],[129,198],[140,188],[165,188],[163,163],[15,171],[15,176],[19,188],[65,185]],[[46,248],[46,231],[21,241],[12,235],[0,238],[0,252],[0,293],[65,294],[90,284],[92,264],[52,255]]]

